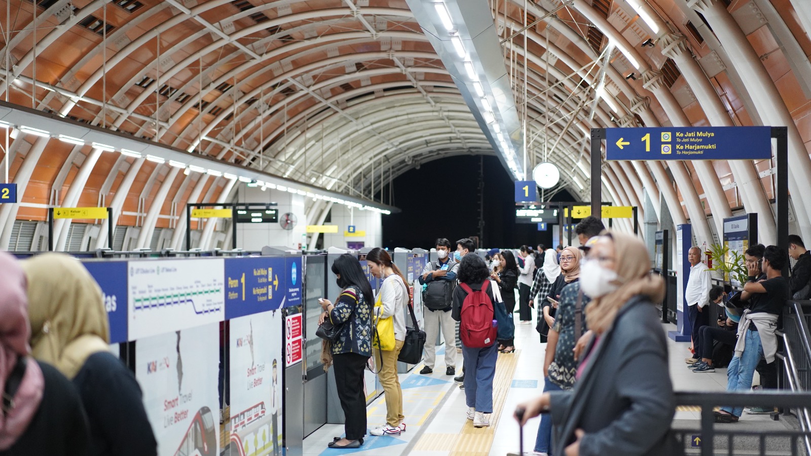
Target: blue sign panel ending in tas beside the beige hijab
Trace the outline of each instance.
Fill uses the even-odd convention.
[[[86,261],[83,265],[101,287],[109,342],[127,342],[127,261]]]

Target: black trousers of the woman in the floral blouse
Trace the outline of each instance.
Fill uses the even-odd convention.
[[[363,394],[363,369],[369,358],[357,353],[333,355],[335,385],[344,411],[347,440],[366,435],[366,394]]]

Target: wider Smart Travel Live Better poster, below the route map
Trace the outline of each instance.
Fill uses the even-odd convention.
[[[144,391],[158,456],[219,454],[218,334],[212,324],[135,344],[135,377]]]

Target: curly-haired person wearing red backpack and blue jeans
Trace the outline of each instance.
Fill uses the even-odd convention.
[[[493,377],[496,375],[496,317],[490,272],[478,255],[466,255],[459,265],[459,286],[453,290],[453,320],[459,321],[461,353],[465,359],[467,419],[476,428],[490,426]]]

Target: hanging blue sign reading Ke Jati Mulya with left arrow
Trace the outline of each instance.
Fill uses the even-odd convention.
[[[606,128],[607,160],[771,158],[771,127]]]

